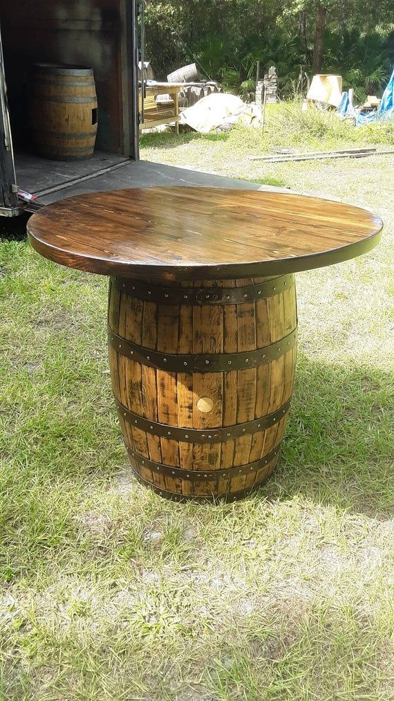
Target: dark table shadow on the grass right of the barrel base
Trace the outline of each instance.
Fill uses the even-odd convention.
[[[393,388],[393,373],[299,357],[281,458],[259,495],[270,500],[299,495],[391,518]]]

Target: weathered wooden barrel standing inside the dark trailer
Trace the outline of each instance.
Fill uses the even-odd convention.
[[[36,152],[56,161],[89,158],[97,135],[97,96],[91,68],[35,64],[29,91]]]

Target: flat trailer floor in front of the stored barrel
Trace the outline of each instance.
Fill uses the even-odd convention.
[[[38,194],[50,189],[61,189],[81,177],[99,175],[129,161],[125,156],[94,151],[92,158],[83,161],[51,161],[34,154],[16,153],[15,169],[18,186],[27,192]]]

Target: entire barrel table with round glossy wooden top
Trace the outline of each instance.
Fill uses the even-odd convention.
[[[72,197],[27,229],[41,255],[110,276],[111,379],[136,477],[215,501],[245,496],[278,459],[295,273],[369,251],[381,227],[319,198],[181,186]]]

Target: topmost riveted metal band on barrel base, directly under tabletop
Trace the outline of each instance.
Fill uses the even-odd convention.
[[[289,290],[295,283],[295,275],[281,275],[247,287],[155,287],[141,280],[118,277],[111,278],[111,282],[121,292],[155,304],[244,304]]]

